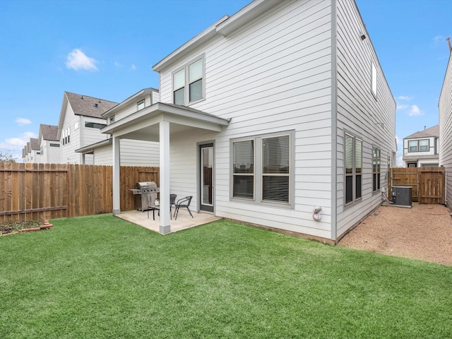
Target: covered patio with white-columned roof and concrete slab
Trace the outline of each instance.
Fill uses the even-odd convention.
[[[106,112],[106,114],[113,114],[114,110]],[[120,210],[120,191],[119,191],[119,170],[120,170],[120,144],[121,138],[145,140],[145,141],[157,141],[160,143],[160,187],[159,187],[159,200],[161,210],[169,210],[169,194],[170,194],[170,136],[190,136],[197,135],[200,131],[210,131],[218,133],[223,128],[228,126],[228,119],[222,119],[216,117],[213,114],[201,112],[197,109],[190,107],[184,107],[179,105],[164,104],[157,102],[154,105],[145,107],[138,112],[134,112],[127,117],[114,121],[112,124],[107,125],[102,129],[102,133],[109,133],[112,135],[113,145],[113,214],[119,216],[119,218],[131,218],[131,222],[135,222],[138,225],[155,230],[161,234],[168,234],[177,230],[183,230],[185,228],[201,225],[206,222],[216,220],[214,215],[205,215],[204,213],[197,213],[200,210],[199,196],[200,196],[200,184],[191,187],[190,191],[182,192],[177,191],[178,196],[194,196],[195,204],[190,206],[192,213],[194,213],[194,220],[188,213],[188,218],[184,215],[177,217],[177,220],[170,220],[169,213],[161,213],[160,218],[152,218],[152,211],[150,211],[150,218],[148,220],[148,213],[132,211],[130,215],[127,212],[121,212]],[[193,153],[191,158],[195,159],[196,153]],[[183,163],[179,163],[179,166],[184,166]],[[199,166],[199,165],[197,165]],[[197,169],[199,172],[201,169]],[[194,182],[199,181],[198,179]],[[214,212],[214,211],[213,211]],[[215,212],[214,212],[215,213]],[[141,214],[141,215],[139,215]],[[209,216],[209,218],[207,218]],[[132,221],[136,220],[136,221]],[[206,221],[208,220],[208,221]],[[198,223],[199,222],[199,223]]]

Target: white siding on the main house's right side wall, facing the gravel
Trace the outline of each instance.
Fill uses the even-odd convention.
[[[381,203],[381,192],[372,188],[372,146],[381,149],[381,187],[387,186],[388,156],[396,152],[396,103],[371,45],[365,40],[362,18],[352,0],[336,1],[338,65],[338,159],[337,159],[337,236],[359,222]],[[371,64],[377,70],[377,96],[371,93]],[[381,126],[383,124],[383,126]],[[362,199],[345,205],[344,136],[345,131],[363,141]]]

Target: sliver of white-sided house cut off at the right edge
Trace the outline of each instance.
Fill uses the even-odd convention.
[[[452,51],[451,51],[452,52]],[[452,202],[452,54],[439,95],[439,166],[446,167],[446,206]]]

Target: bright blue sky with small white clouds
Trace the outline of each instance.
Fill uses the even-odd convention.
[[[282,0],[283,1],[283,0]],[[64,91],[121,102],[158,88],[152,66],[251,0],[0,1],[0,152],[57,125]],[[397,103],[402,140],[438,124],[451,0],[356,0]]]

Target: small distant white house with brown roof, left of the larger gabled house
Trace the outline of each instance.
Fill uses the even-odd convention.
[[[37,140],[40,145],[40,156],[36,162],[58,164],[60,162],[58,126],[40,124]]]

